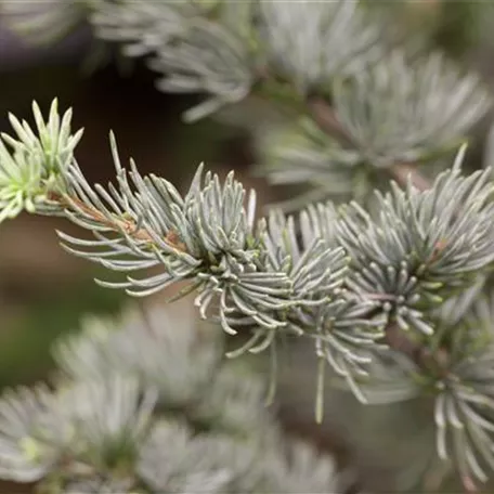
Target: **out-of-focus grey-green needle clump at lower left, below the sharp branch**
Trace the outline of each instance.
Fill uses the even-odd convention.
[[[54,347],[53,386],[0,398],[0,477],[48,494],[337,492],[334,459],[283,437],[217,336],[162,309],[84,320]]]

